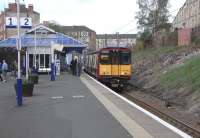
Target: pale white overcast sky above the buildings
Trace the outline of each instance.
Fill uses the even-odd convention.
[[[0,10],[8,2],[0,0]],[[23,0],[21,0],[23,2]],[[137,0],[24,0],[34,4],[41,21],[55,20],[62,25],[85,25],[99,33],[136,33]],[[170,0],[172,17],[185,0]],[[172,20],[172,19],[171,19]]]

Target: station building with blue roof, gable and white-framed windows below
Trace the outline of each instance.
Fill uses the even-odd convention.
[[[9,37],[3,41],[0,41],[0,50],[12,49],[12,57],[17,59],[16,52],[17,37]],[[28,53],[28,68],[32,68],[37,65],[39,72],[50,72],[50,64],[52,62],[52,56],[55,62],[58,61],[60,68],[66,63],[66,56],[70,56],[70,60],[73,54],[81,54],[86,45],[80,41],[69,37],[67,35],[55,32],[54,30],[40,24],[35,28],[21,35],[22,55],[23,55],[23,66],[25,66],[25,51]],[[60,52],[54,52],[52,54],[52,47],[60,46],[62,50]],[[24,51],[24,52],[23,52]],[[8,53],[8,55],[11,53]],[[6,57],[3,57],[6,59]],[[9,61],[10,59],[6,59]]]

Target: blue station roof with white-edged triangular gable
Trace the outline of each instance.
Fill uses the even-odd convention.
[[[16,48],[17,36],[0,41],[0,48]],[[67,35],[55,32],[54,30],[38,25],[25,34],[21,35],[23,47],[50,47],[52,44],[63,45],[66,53],[71,51],[82,52],[86,45]]]

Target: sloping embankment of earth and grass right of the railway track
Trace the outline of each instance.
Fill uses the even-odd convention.
[[[134,86],[167,105],[200,118],[200,48],[162,47],[134,51]]]

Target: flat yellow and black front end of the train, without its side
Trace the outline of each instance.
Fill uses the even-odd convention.
[[[102,49],[99,78],[112,87],[124,87],[131,77],[131,51],[127,48]]]

